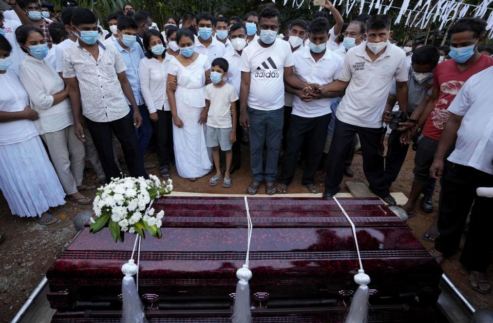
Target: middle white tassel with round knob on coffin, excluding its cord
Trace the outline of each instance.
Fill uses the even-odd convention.
[[[248,281],[252,278],[252,272],[247,265],[236,271],[238,283],[236,284],[235,306],[233,309],[233,323],[250,323],[250,286]]]

